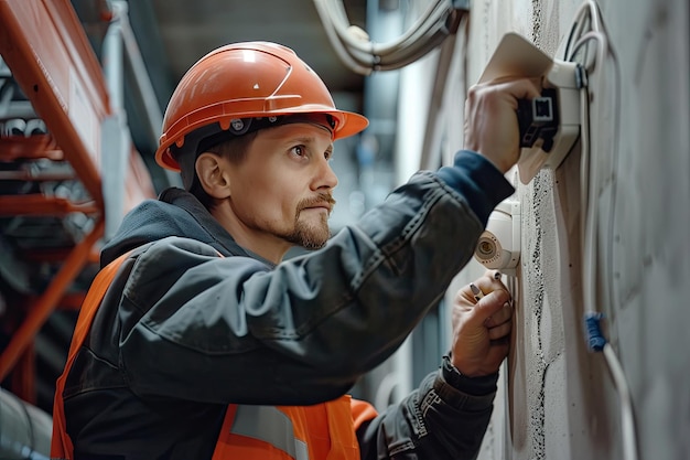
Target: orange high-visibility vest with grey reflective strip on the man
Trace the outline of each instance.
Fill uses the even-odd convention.
[[[74,459],[65,424],[65,381],[106,290],[128,256],[129,253],[118,257],[96,276],[79,311],[67,362],[55,387],[51,442],[54,459]],[[313,406],[230,404],[212,460],[358,460],[355,429],[376,415],[370,404],[349,395]]]

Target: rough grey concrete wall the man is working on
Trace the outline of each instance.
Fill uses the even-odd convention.
[[[601,24],[578,15],[587,7]],[[557,171],[515,181],[514,347],[479,458],[689,459],[688,1],[476,1],[457,51],[463,64],[453,67],[463,75],[454,77],[476,82],[506,32],[564,60],[575,18],[581,33],[599,28],[575,56],[587,68],[589,124]],[[461,147],[455,141],[449,150]],[[481,272],[471,264],[456,285]],[[589,310],[604,313],[607,353],[587,349]],[[616,362],[633,431],[611,372]]]

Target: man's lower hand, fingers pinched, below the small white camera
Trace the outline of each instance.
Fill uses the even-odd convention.
[[[483,292],[478,301],[470,286],[457,291],[453,302],[452,364],[468,377],[498,371],[508,354],[513,307],[508,290],[489,270],[474,281]]]

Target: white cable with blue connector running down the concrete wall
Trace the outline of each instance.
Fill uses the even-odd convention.
[[[584,32],[585,26],[591,26],[591,30]],[[575,24],[571,32],[569,43],[565,47],[565,58],[573,61],[575,54],[581,49],[584,49],[586,44],[594,41],[596,42],[596,54],[587,68],[587,63],[584,66],[587,75],[593,69],[594,65],[600,66],[599,78],[602,78],[603,72],[601,66],[604,64],[605,57],[611,56],[611,50],[608,49],[606,35],[603,33],[602,25],[599,19],[597,7],[594,1],[587,0],[580,7],[575,14]],[[584,32],[584,33],[583,33]],[[572,51],[570,51],[570,42],[575,39],[572,44]],[[586,52],[586,49],[584,49]],[[585,56],[586,61],[586,56]],[[584,258],[582,263],[582,287],[583,287],[583,301],[587,320],[587,340],[590,349],[593,351],[603,351],[606,365],[611,372],[613,383],[621,402],[621,429],[623,437],[623,453],[626,460],[637,460],[637,435],[635,429],[635,415],[633,410],[633,398],[627,385],[625,372],[621,366],[621,362],[616,356],[615,350],[606,341],[600,330],[599,320],[602,314],[596,307],[596,188],[597,181],[597,168],[594,167],[594,162],[590,158],[593,149],[590,147],[590,117],[589,117],[589,83],[581,90],[582,103],[582,158],[581,158],[581,203],[582,210],[584,210],[584,223],[582,228],[582,247],[584,250]],[[601,82],[596,87],[602,88]],[[617,89],[617,88],[616,88]],[[616,97],[616,101],[618,98]],[[615,122],[618,122],[618,114],[616,113]],[[614,138],[618,135],[614,132]],[[614,154],[617,154],[617,138],[614,147]]]

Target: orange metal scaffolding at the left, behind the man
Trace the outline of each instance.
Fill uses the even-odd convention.
[[[64,216],[80,212],[95,220],[83,240],[64,255],[44,292],[23,306],[23,322],[0,355],[1,381],[20,367],[22,356],[32,360],[36,333],[75,278],[95,258],[106,215],[99,173],[104,154],[101,124],[111,109],[100,64],[69,0],[0,0],[0,55],[50,132],[1,139],[0,161],[18,157],[67,161],[90,196],[90,201],[80,203],[41,193],[0,196],[0,215]],[[143,163],[128,164],[128,196],[150,196],[152,186],[148,172],[142,171]],[[149,183],[141,181],[142,174]],[[35,257],[36,254],[31,255]],[[13,379],[13,391],[33,402],[32,366],[21,367],[17,372],[19,382]]]

